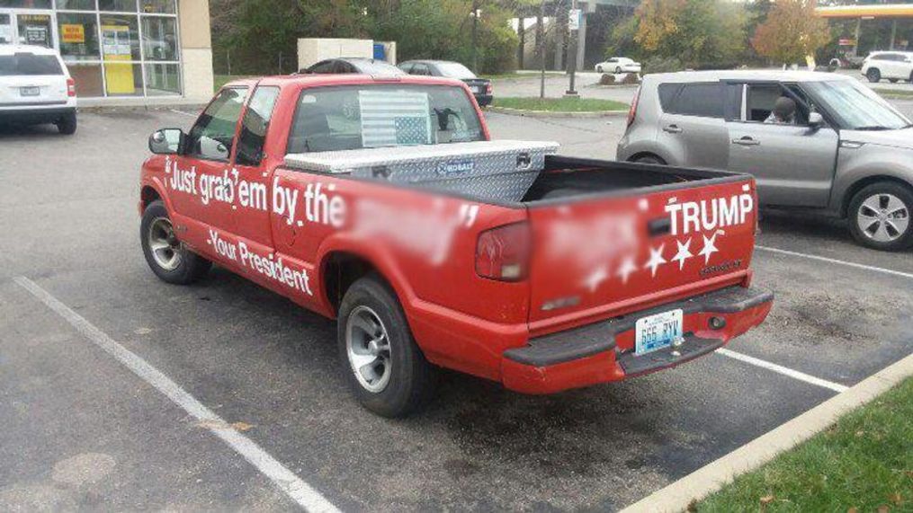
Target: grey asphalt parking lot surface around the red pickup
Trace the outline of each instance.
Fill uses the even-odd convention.
[[[558,139],[600,158],[624,129],[623,118],[488,118],[496,138]],[[913,351],[913,252],[869,251],[839,223],[770,212],[752,263],[777,300],[734,354],[545,397],[446,374],[425,413],[382,419],[349,395],[333,323],[221,269],[192,287],[148,270],[136,210],[146,138],[192,121],[87,113],[71,138],[0,128],[2,510],[296,508],[93,336],[142,357],[342,510],[623,508]]]

